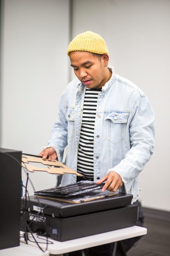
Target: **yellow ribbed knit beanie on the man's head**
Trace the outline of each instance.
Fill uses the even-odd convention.
[[[99,34],[91,31],[86,31],[74,37],[68,46],[68,56],[71,51],[89,51],[96,54],[108,54],[104,39]]]

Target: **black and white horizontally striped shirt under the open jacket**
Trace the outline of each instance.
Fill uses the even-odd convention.
[[[77,171],[88,179],[94,178],[94,129],[99,92],[102,89],[86,88]]]

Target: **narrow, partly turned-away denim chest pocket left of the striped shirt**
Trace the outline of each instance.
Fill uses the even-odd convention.
[[[67,107],[65,111],[66,120],[67,120],[67,138],[74,137],[74,109],[71,107]]]

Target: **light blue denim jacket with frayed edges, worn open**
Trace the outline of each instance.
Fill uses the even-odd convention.
[[[138,175],[149,161],[154,148],[154,113],[146,95],[132,82],[114,73],[102,87],[97,103],[94,131],[94,181],[109,171],[117,172],[124,186],[122,192],[139,199]],[[62,94],[58,117],[48,146],[62,161],[68,145],[66,165],[77,170],[77,151],[86,87],[71,81]],[[98,177],[98,179],[97,179]],[[61,185],[76,182],[65,174]]]

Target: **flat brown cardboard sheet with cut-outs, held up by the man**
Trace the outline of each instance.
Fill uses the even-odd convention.
[[[71,168],[67,167],[66,165],[58,162],[57,160],[50,161],[48,159],[43,159],[41,157],[30,156],[30,155],[22,155],[22,162],[27,166],[27,169],[30,172],[34,171],[47,171],[49,174],[76,174],[77,176],[82,176],[77,171],[72,170]],[[36,167],[34,165],[29,164],[30,162],[33,163],[41,163],[43,165],[48,165],[47,168],[45,167]],[[22,167],[26,168],[22,163]],[[56,167],[53,167],[56,166]]]

